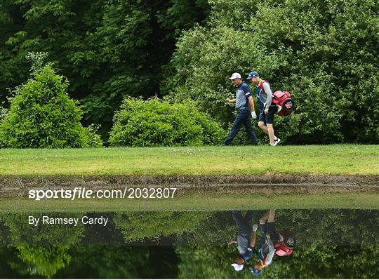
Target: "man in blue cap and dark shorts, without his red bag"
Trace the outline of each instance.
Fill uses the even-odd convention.
[[[260,115],[258,119],[258,126],[269,135],[270,146],[279,144],[280,139],[274,133],[274,114],[278,112],[277,105],[272,103],[272,94],[270,84],[267,81],[260,79],[258,72],[250,72],[248,81],[255,84],[258,103],[260,105]]]

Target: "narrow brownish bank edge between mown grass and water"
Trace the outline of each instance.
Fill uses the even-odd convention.
[[[302,185],[379,187],[379,175],[1,175],[0,189],[20,187],[182,185]]]

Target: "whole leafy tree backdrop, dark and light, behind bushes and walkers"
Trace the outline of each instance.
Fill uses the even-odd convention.
[[[254,69],[293,94],[297,112],[276,118],[284,142],[378,143],[378,12],[373,0],[3,0],[0,102],[27,80],[25,55],[44,51],[103,140],[126,95],[192,98],[227,128],[227,77]]]

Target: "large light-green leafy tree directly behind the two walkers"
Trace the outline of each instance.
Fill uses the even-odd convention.
[[[277,117],[287,142],[379,141],[378,1],[210,3],[208,25],[178,41],[166,82],[173,99],[190,96],[227,124],[227,77],[254,69],[293,94],[297,112]]]

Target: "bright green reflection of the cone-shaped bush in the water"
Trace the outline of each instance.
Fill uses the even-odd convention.
[[[43,214],[39,215],[42,218]],[[79,218],[78,214],[60,214],[62,218]],[[11,266],[22,274],[53,276],[67,267],[71,260],[69,248],[78,244],[83,236],[82,224],[71,225],[29,225],[25,214],[4,215],[4,222],[10,232],[11,245],[17,248],[22,262],[13,261]]]

